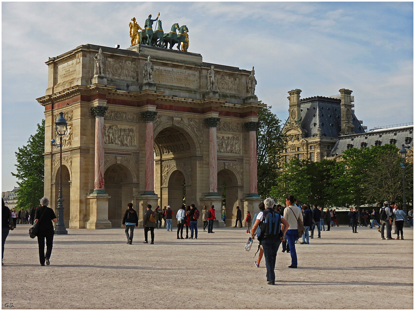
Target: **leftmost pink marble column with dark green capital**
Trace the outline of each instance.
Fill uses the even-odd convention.
[[[104,190],[104,115],[106,106],[95,106],[91,111],[95,114],[95,182],[94,192],[105,193]]]

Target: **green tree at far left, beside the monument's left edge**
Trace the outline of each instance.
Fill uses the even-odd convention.
[[[39,206],[44,194],[44,153],[45,120],[37,124],[37,131],[30,135],[26,146],[15,152],[17,173],[11,173],[19,180],[17,184],[17,208],[31,209]]]

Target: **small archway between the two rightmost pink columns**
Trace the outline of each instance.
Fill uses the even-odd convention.
[[[225,191],[224,186],[225,185]],[[226,209],[226,222],[225,226],[234,226],[234,219],[236,219],[236,207],[239,205],[239,208],[243,212],[243,208],[239,203],[239,186],[238,186],[238,180],[236,175],[232,172],[232,170],[229,169],[222,169],[217,173],[217,192],[220,196],[222,196],[222,193],[225,192],[225,202],[224,198],[222,196],[222,206],[225,203],[225,209]],[[222,207],[217,211],[217,213],[220,213],[222,215]],[[222,216],[216,217],[219,220],[219,223],[222,221]],[[244,218],[244,215],[242,215],[242,219]]]

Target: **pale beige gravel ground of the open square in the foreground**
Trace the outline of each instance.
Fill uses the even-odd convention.
[[[160,229],[154,245],[142,243],[143,229],[133,245],[122,229],[70,229],[41,267],[29,227],[7,237],[3,309],[413,309],[413,228],[404,241],[333,228],[296,244],[298,269],[280,249],[271,286],[265,261],[254,267],[256,245],[244,250],[245,228],[199,230],[198,240]]]

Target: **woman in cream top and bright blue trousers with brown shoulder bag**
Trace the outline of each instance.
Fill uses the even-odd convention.
[[[295,251],[295,241],[298,238],[298,219],[303,220],[301,209],[294,206],[295,198],[293,195],[287,195],[286,205],[284,209],[284,219],[287,220],[289,228],[286,231],[288,245],[290,247],[291,265],[289,268],[297,267],[297,252]],[[330,213],[329,213],[330,214]]]

